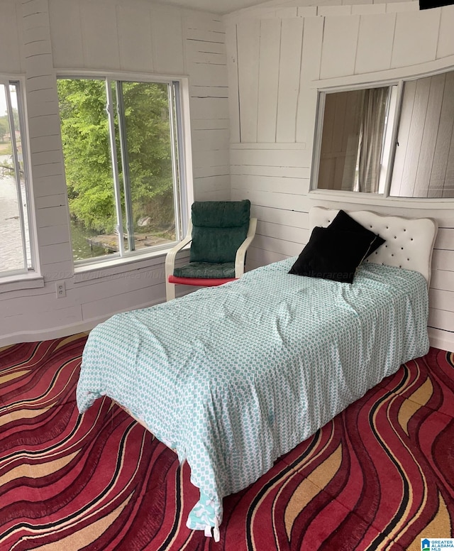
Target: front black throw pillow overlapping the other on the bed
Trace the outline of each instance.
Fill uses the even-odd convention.
[[[353,283],[356,269],[369,251],[373,239],[375,234],[369,236],[356,231],[315,227],[309,243],[289,273]]]

